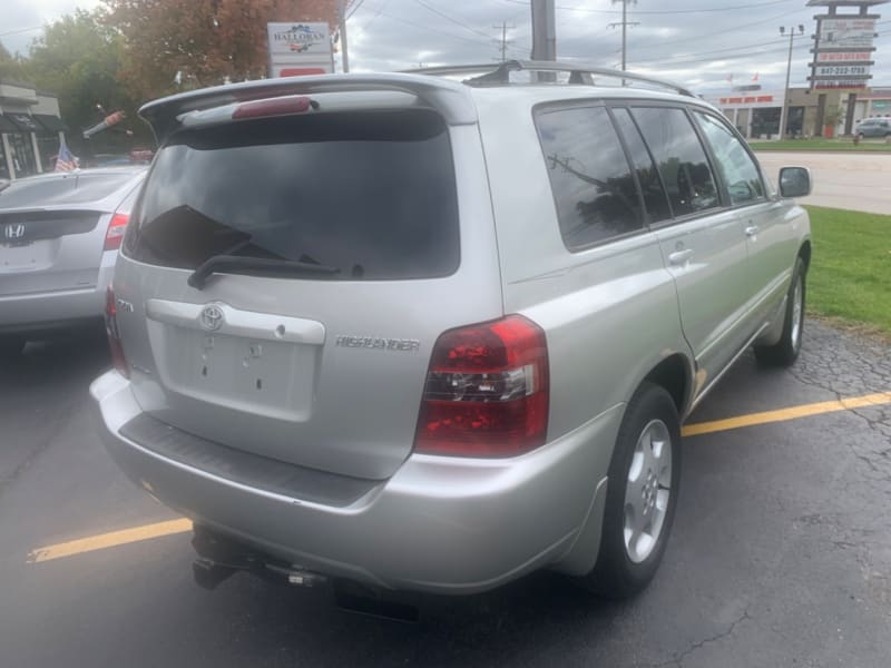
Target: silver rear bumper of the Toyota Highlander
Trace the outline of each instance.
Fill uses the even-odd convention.
[[[585,549],[599,542],[590,536],[593,527],[599,534],[601,518],[590,509],[621,415],[616,406],[510,460],[411,455],[354,502],[331,507],[185,465],[123,436],[140,409],[116,372],[97,379],[90,393],[120,468],[196,522],[331,577],[439,593],[482,591],[559,567],[582,528]]]

